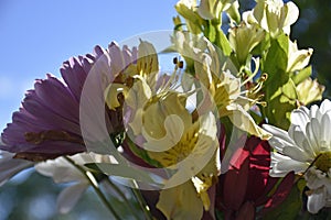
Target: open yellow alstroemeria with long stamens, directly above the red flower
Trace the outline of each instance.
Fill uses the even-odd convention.
[[[250,134],[261,139],[270,138],[247,113],[247,107],[255,101],[243,96],[242,81],[231,74],[228,70],[231,65],[221,67],[220,57],[210,42],[207,42],[207,48],[209,53],[197,54],[196,57],[200,59],[194,61],[196,77],[205,87],[202,89],[204,100],[201,107],[207,108],[207,105],[214,102],[218,110],[218,117],[228,117],[235,127]]]

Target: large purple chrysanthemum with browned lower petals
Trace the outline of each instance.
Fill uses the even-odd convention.
[[[96,46],[94,54],[72,57],[63,63],[63,81],[47,74],[39,79],[34,89],[25,94],[19,111],[12,116],[1,134],[1,150],[15,153],[15,157],[31,161],[54,158],[86,151],[79,123],[79,101],[88,73],[99,72],[103,91],[122,69],[137,58],[137,50],[122,50],[111,43],[108,50]],[[102,95],[102,94],[100,94]],[[106,105],[106,124],[109,132],[121,124],[121,111],[109,110]]]

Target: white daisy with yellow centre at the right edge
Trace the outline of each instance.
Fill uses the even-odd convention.
[[[321,107],[300,107],[291,113],[287,131],[273,125],[264,129],[274,136],[269,140],[271,152],[270,176],[282,177],[295,170],[305,174],[309,187],[308,211],[317,213],[331,207],[331,101]]]

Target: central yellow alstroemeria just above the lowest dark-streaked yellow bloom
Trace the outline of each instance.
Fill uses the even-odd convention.
[[[180,74],[180,70],[174,69],[171,76],[157,73],[143,76],[137,75],[132,78],[132,86],[127,91],[125,105],[130,108],[132,114],[129,125],[135,135],[141,134],[143,131],[153,138],[163,136],[167,132],[163,125],[158,125],[163,124],[166,118],[173,112],[183,116],[184,121],[188,121],[186,114],[189,113],[182,105],[185,102],[186,95],[177,96],[178,92],[173,88],[178,81],[178,74]],[[168,94],[167,101],[164,101],[166,94]],[[162,100],[162,109],[159,109],[159,112],[151,110],[158,108],[160,100]],[[145,120],[143,114],[153,121]]]

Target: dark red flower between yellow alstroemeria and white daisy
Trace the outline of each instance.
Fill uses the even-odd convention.
[[[245,139],[235,144],[236,151],[225,167],[228,170],[220,176],[216,206],[225,219],[254,219],[273,209],[286,199],[295,179],[293,173],[284,179],[270,177],[270,145],[256,136]]]

